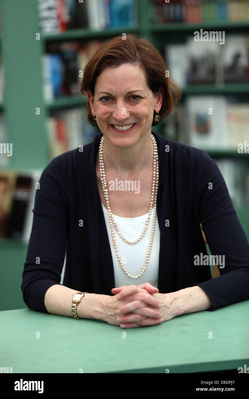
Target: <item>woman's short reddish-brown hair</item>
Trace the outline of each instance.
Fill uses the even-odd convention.
[[[94,96],[96,79],[102,70],[107,67],[118,67],[124,63],[139,65],[145,72],[147,85],[152,93],[158,93],[159,87],[163,87],[163,101],[159,111],[161,119],[169,115],[173,105],[178,103],[181,98],[181,89],[177,83],[165,76],[167,70],[165,60],[159,51],[146,39],[141,39],[134,34],[127,34],[126,40],[122,36],[116,36],[107,40],[91,57],[86,67],[80,83],[80,92],[86,95],[90,90]],[[88,122],[93,126],[90,103],[86,105],[88,112]],[[153,120],[152,126],[158,122]]]

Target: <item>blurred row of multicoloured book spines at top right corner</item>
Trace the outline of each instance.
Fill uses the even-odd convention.
[[[151,22],[197,23],[206,21],[248,21],[248,0],[165,0],[150,1]]]

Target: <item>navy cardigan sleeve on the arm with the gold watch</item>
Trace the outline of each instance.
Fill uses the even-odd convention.
[[[54,160],[43,170],[39,183],[21,289],[28,308],[49,313],[44,297],[48,288],[60,284],[68,231]]]

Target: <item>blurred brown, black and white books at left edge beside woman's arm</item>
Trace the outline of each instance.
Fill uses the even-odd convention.
[[[42,170],[0,172],[0,238],[27,243],[32,229],[36,183]]]

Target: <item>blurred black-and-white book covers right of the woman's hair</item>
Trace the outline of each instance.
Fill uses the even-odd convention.
[[[249,36],[225,35],[225,43],[194,41],[165,46],[171,77],[186,85],[249,82]]]

